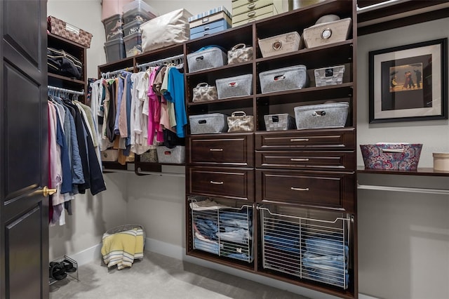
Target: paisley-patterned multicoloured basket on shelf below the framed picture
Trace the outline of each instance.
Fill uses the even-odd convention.
[[[422,144],[376,143],[360,145],[365,168],[415,171],[420,161]]]

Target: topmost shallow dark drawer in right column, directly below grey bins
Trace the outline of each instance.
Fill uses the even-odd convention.
[[[255,149],[355,150],[355,133],[353,128],[256,133]]]

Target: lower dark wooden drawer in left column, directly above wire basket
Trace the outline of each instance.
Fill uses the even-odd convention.
[[[189,194],[254,201],[253,168],[187,167]]]

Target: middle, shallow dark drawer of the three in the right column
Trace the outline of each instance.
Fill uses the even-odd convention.
[[[354,151],[258,151],[255,167],[354,171]]]

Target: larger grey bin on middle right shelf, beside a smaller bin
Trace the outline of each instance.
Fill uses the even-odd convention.
[[[309,86],[309,76],[305,65],[260,72],[259,79],[262,93],[288,91]]]

